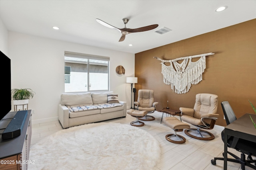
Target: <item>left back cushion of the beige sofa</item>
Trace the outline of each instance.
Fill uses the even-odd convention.
[[[66,106],[86,105],[92,103],[92,93],[64,93],[60,96],[60,104]]]

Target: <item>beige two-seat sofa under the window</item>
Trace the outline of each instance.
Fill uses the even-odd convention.
[[[58,117],[63,128],[126,116],[126,102],[113,92],[62,94]]]

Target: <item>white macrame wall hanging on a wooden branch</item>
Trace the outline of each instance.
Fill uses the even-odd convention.
[[[162,62],[164,83],[171,85],[173,92],[182,94],[190,90],[191,84],[198,84],[202,81],[202,74],[206,68],[206,56],[208,55],[214,55],[214,53],[181,57],[173,60],[154,58]],[[196,57],[200,57],[200,59],[192,62],[191,59]],[[179,60],[183,61],[178,63],[177,61]],[[166,66],[164,63],[170,63],[170,66]]]

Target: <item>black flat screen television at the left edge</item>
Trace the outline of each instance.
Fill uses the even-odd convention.
[[[1,64],[4,66],[3,70],[3,78],[2,78],[2,108],[0,111],[0,120],[4,118],[4,116],[9,113],[12,109],[12,96],[11,96],[11,60],[0,51],[1,56]]]

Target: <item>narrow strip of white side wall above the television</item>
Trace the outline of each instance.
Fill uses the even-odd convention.
[[[8,57],[8,30],[0,18],[0,51]]]

